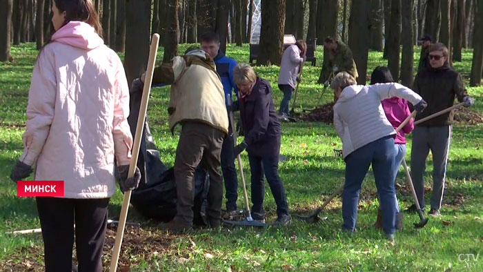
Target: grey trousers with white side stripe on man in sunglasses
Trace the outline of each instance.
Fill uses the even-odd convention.
[[[431,208],[441,208],[446,180],[451,126],[416,126],[411,148],[411,177],[421,208],[424,207],[424,171],[429,150],[433,154],[433,193]]]

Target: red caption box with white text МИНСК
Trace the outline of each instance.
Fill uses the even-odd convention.
[[[63,197],[63,180],[19,180],[17,197]]]

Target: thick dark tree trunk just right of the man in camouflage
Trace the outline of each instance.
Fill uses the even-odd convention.
[[[351,17],[349,18],[348,46],[353,50],[355,65],[357,66],[357,84],[366,84],[367,57],[371,30],[371,0],[351,1]]]

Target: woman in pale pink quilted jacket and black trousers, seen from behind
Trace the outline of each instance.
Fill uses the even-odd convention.
[[[129,90],[121,60],[103,44],[91,0],[54,0],[55,33],[39,52],[28,93],[23,154],[10,177],[17,182],[63,180],[63,197],[37,197],[46,271],[70,271],[75,242],[79,271],[102,271],[115,157],[121,190],[132,136]],[[74,228],[75,224],[75,228]]]

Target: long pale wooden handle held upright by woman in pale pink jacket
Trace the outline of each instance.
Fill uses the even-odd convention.
[[[151,90],[152,75],[155,70],[156,53],[159,43],[159,35],[152,35],[151,46],[149,49],[148,69],[146,70],[146,78],[144,79],[143,96],[141,98],[141,106],[139,107],[139,115],[137,117],[136,134],[134,144],[132,144],[131,162],[129,164],[128,177],[133,177],[136,170],[137,157],[139,155],[139,147],[141,145],[141,135],[144,128],[144,119],[146,118],[146,110],[148,109],[149,93]],[[124,192],[124,200],[121,206],[121,215],[119,215],[119,225],[117,226],[116,240],[114,249],[112,249],[112,259],[110,260],[110,272],[115,272],[117,262],[119,261],[119,253],[121,252],[121,244],[124,236],[124,227],[126,226],[126,218],[128,217],[129,201],[131,191]]]

